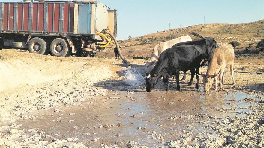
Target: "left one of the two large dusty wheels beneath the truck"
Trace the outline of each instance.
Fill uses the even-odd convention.
[[[38,37],[35,37],[29,41],[29,52],[36,54],[45,54],[47,50],[47,43]]]

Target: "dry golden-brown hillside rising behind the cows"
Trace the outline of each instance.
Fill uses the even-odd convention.
[[[164,42],[182,35],[190,35],[190,32],[196,32],[202,36],[213,37],[217,43],[231,42],[235,40],[241,42],[241,46],[237,49],[244,49],[249,43],[253,43],[253,47],[256,46],[257,42],[255,40],[264,38],[264,20],[242,24],[217,23],[193,25],[147,34],[143,36],[145,42],[140,41],[139,36],[132,39],[120,40],[119,44],[122,47],[121,50],[125,56],[133,54],[136,56],[149,55],[152,52],[152,48],[158,42]],[[259,35],[257,35],[257,33]],[[195,36],[190,36],[192,39],[197,39]],[[127,45],[128,47],[126,47]],[[107,54],[101,53],[100,55],[105,54],[107,57],[112,57],[114,55],[112,51],[113,49],[108,49]]]

